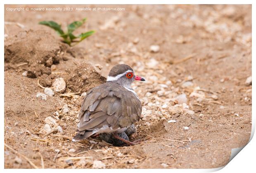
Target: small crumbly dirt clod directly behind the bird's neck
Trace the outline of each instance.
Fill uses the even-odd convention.
[[[106,82],[106,78],[91,64],[83,62],[69,74],[67,86],[73,92],[87,92]]]

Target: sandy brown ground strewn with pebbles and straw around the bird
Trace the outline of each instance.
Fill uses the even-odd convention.
[[[250,5],[89,6],[125,11],[5,10],[5,22],[14,22],[5,24],[5,168],[217,168],[228,162],[232,148],[247,144],[251,134],[251,85],[245,83],[251,76]],[[88,21],[75,33],[97,32],[72,48],[50,28],[38,25],[53,20],[66,27],[84,17]],[[159,45],[159,50],[152,52],[151,45]],[[47,64],[48,55],[55,61]],[[45,87],[51,87],[57,77],[67,82],[83,62],[97,66],[105,77],[115,64],[128,64],[146,78],[145,83],[133,85],[143,105],[134,135],[142,140],[140,144],[115,147],[99,138],[71,142],[81,92],[72,97],[55,94],[47,100],[36,97],[44,92],[38,79]],[[22,76],[28,70],[36,78]],[[98,74],[93,78],[97,82],[90,83],[95,85],[104,81]],[[86,91],[93,85],[83,87]],[[66,88],[67,92],[77,91]],[[181,94],[186,95],[186,104],[177,100]],[[69,108],[66,113],[64,105]],[[42,133],[48,116],[55,118],[62,133]]]

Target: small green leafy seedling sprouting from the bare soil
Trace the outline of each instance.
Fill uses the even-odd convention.
[[[85,21],[86,21],[86,18],[84,18],[81,21],[72,22],[67,26],[66,33],[62,30],[61,25],[57,24],[55,21],[40,21],[39,24],[49,26],[50,28],[54,29],[57,32],[57,34],[64,39],[63,42],[71,46],[71,43],[76,42],[76,44],[78,44],[85,38],[95,33],[95,31],[88,31],[86,33],[81,33],[78,36],[73,35],[73,31],[75,31],[77,28],[82,26],[85,23]]]

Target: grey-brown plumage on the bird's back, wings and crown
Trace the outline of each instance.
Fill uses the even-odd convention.
[[[114,67],[109,76],[117,76],[127,70],[133,71],[124,64],[120,66],[121,68]],[[122,85],[122,83],[126,83],[122,82],[122,80],[126,80],[125,78],[124,74],[120,79],[108,81],[92,88],[87,93],[79,112],[79,123],[76,130],[78,133],[73,137],[73,141],[85,139],[93,134],[124,131],[139,121],[142,105],[136,93],[131,88],[127,88],[126,84]],[[137,79],[134,76],[129,80],[132,80],[131,84]]]

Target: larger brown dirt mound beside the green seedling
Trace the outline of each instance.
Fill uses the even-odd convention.
[[[36,76],[49,75],[52,64],[58,64],[68,49],[67,45],[47,31],[22,31],[5,42],[5,69],[9,69],[10,64],[24,63],[26,70]]]

